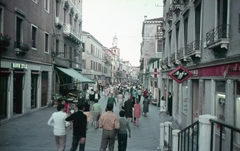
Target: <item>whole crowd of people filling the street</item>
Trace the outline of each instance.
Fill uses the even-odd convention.
[[[105,112],[99,104],[101,98],[99,92],[102,91],[106,101]],[[118,140],[118,150],[125,151],[127,148],[127,138],[131,137],[130,122],[139,127],[141,114],[147,117],[149,112],[149,90],[141,85],[101,85],[98,89],[87,87],[78,94],[78,101],[73,103],[73,108],[66,100],[58,104],[57,110],[52,114],[48,125],[54,126],[54,135],[58,151],[65,150],[66,128],[73,129],[72,147],[70,151],[75,151],[79,145],[79,150],[85,150],[86,131],[90,120],[95,130],[102,128],[102,138],[100,151],[105,151],[107,146],[110,151],[114,150],[115,140]],[[171,93],[170,93],[171,95]],[[141,102],[141,100],[143,100]],[[169,104],[168,104],[169,105]],[[171,104],[170,104],[171,105]],[[119,118],[113,113],[113,108],[119,107]],[[166,113],[165,99],[162,97],[160,113]],[[91,111],[92,116],[91,117]],[[171,114],[170,114],[171,115]]]

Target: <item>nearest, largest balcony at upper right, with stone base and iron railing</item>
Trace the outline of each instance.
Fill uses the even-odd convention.
[[[227,24],[220,25],[206,34],[206,44],[209,49],[216,47],[228,49],[229,44],[229,28]]]

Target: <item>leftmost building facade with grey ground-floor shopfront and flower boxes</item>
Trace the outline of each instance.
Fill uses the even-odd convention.
[[[0,1],[1,121],[51,101],[51,6],[50,0]]]

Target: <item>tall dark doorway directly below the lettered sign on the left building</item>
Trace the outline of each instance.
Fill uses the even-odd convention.
[[[13,76],[13,113],[22,114],[23,74]]]

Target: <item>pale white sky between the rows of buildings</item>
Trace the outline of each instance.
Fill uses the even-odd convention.
[[[120,58],[139,66],[144,16],[162,17],[162,3],[163,0],[83,0],[82,29],[107,48],[112,47],[116,34]]]

